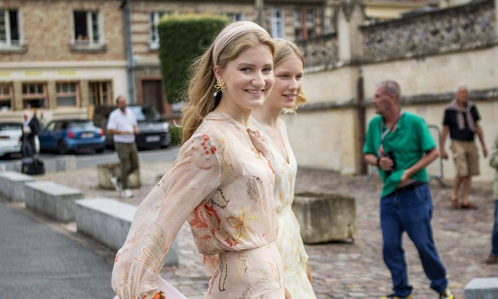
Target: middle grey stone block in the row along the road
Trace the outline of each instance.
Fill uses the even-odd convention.
[[[80,190],[51,181],[26,183],[24,193],[27,208],[60,222],[74,220],[74,201],[83,198]]]

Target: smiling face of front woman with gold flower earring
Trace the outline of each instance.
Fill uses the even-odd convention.
[[[232,111],[252,111],[260,107],[274,83],[273,55],[265,44],[252,46],[229,61],[225,68],[215,66],[217,79],[224,79],[226,89],[220,105]]]

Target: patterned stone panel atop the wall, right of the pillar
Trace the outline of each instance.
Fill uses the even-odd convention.
[[[361,27],[364,61],[477,49],[497,43],[494,0],[429,11]]]

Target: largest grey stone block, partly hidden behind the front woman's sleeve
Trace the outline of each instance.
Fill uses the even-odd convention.
[[[135,206],[115,199],[80,199],[74,207],[76,230],[118,251],[126,241],[135,211]],[[178,266],[178,236],[165,265]]]

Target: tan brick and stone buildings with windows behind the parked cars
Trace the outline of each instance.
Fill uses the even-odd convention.
[[[262,2],[262,23],[273,37],[306,40],[336,31],[337,0]],[[401,2],[397,9],[415,5]],[[163,14],[182,13],[257,19],[254,0],[0,0],[0,119],[19,119],[26,108],[43,109],[48,118],[91,116],[120,94],[171,113],[157,23]]]

